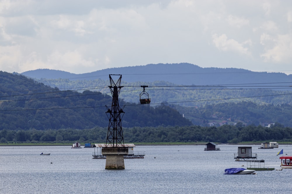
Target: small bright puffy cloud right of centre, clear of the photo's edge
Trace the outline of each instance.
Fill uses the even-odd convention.
[[[247,40],[243,43],[239,43],[234,39],[228,39],[226,34],[217,35],[213,34],[213,43],[215,44],[215,47],[217,47],[219,50],[222,51],[235,51],[240,54],[244,55],[251,55],[248,48],[244,47],[246,43],[251,44],[251,40]]]

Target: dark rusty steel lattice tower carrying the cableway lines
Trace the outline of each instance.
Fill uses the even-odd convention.
[[[124,111],[119,106],[119,98],[118,98],[120,90],[124,86],[121,86],[122,75],[114,75],[114,76],[120,76],[117,82],[114,82],[111,75],[114,75],[114,74],[109,75],[110,86],[108,87],[112,93],[112,106],[111,108],[108,108],[106,106],[107,107],[106,114],[109,119],[106,147],[124,147],[124,137],[123,137],[123,130],[122,130],[122,125],[121,125],[121,118],[124,115]]]

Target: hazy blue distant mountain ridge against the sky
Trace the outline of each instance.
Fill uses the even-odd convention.
[[[108,80],[109,74],[121,74],[125,82],[166,81],[179,85],[224,85],[268,83],[269,86],[292,82],[292,75],[284,73],[252,72],[237,68],[202,68],[190,63],[148,64],[134,67],[117,67],[84,74],[38,69],[23,72],[22,75],[41,79]],[[273,84],[274,83],[274,84]]]

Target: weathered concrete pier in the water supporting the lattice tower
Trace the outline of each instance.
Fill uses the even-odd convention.
[[[125,169],[124,155],[128,155],[128,147],[103,147],[102,155],[106,155],[105,169]]]

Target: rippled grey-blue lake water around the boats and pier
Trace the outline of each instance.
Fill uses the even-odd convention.
[[[105,159],[92,159],[94,148],[71,146],[0,147],[0,193],[288,193],[292,169],[224,175],[226,168],[246,168],[235,161],[242,145],[137,146],[144,159],[125,159],[125,170],[105,170]],[[246,145],[250,146],[250,145]],[[83,146],[82,146],[83,147]],[[280,168],[277,153],[292,155],[291,145],[258,149],[265,167]],[[97,148],[95,148],[97,151]],[[40,153],[51,153],[41,156]],[[244,167],[242,167],[244,165]]]

